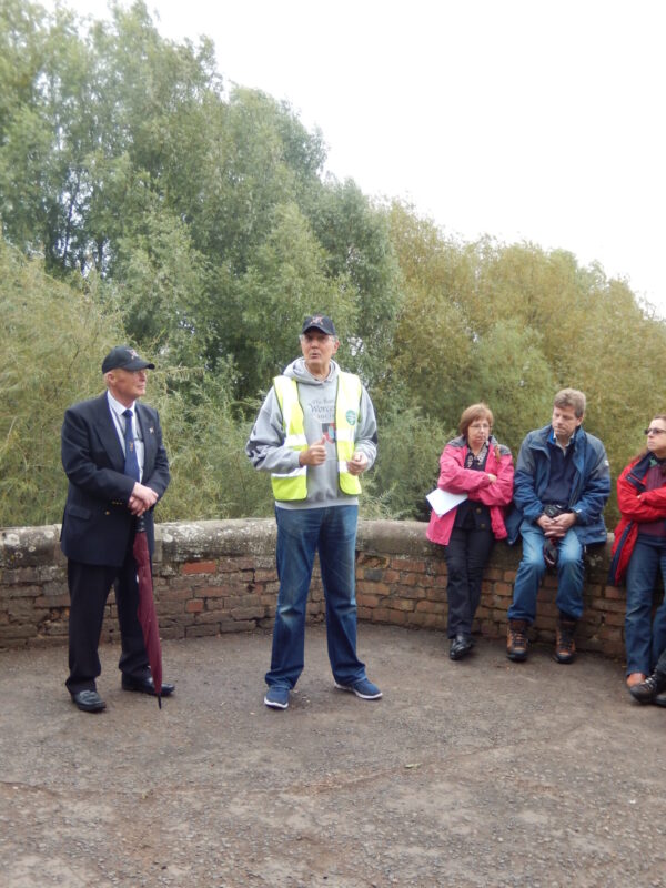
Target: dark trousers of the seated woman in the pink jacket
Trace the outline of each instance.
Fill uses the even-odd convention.
[[[491,556],[495,538],[492,531],[454,527],[444,558],[448,572],[448,637],[470,635],[472,620],[481,599],[483,571]]]

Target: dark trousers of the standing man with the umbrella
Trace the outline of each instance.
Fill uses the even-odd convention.
[[[98,646],[104,619],[104,607],[115,587],[121,655],[119,668],[134,678],[149,675],[143,632],[137,617],[139,586],[137,562],[131,547],[121,567],[81,564],[69,561],[67,578],[70,591],[69,678],[70,694],[94,690],[95,678],[102,670]]]

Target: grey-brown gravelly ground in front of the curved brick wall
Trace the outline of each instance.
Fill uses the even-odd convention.
[[[9,888],[666,886],[666,712],[617,663],[361,625],[384,698],[335,690],[325,633],[286,712],[270,636],[163,645],[176,693],[80,713],[63,648],[0,653],[0,885]]]

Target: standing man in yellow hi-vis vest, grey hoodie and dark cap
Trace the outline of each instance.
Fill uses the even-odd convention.
[[[245,447],[254,467],[271,473],[275,496],[280,593],[264,697],[275,709],[286,709],[303,672],[315,553],[335,687],[382,696],[356,656],[357,497],[377,452],[374,408],[360,379],[333,360],[340,341],[330,317],[306,317],[300,339],[303,357],[273,380]]]

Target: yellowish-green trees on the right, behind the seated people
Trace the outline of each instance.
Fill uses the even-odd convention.
[[[412,403],[426,415],[453,427],[467,404],[486,401],[498,438],[517,455],[525,433],[549,421],[555,392],[581,389],[585,427],[604,442],[617,476],[640,446],[638,430],[666,402],[657,370],[664,322],[624,282],[565,251],[456,243],[401,204],[392,226],[408,295],[383,400],[411,367]],[[608,525],[616,518],[614,493]]]

